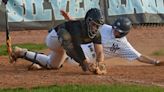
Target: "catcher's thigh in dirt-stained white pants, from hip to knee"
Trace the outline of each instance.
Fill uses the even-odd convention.
[[[65,59],[67,58],[66,52],[61,46],[56,31],[53,29],[46,38],[46,45],[52,51],[50,54],[50,65],[52,68],[59,69]]]

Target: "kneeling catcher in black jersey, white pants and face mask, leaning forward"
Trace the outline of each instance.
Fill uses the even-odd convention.
[[[93,43],[96,61],[98,64],[104,65],[103,47],[99,32],[103,23],[101,11],[97,8],[91,8],[86,13],[84,20],[70,20],[49,30],[50,33],[46,38],[46,45],[52,51],[49,56],[15,47],[12,59],[16,61],[18,58],[24,58],[46,69],[59,69],[69,56],[81,66],[84,72],[89,70],[96,74],[103,74],[99,68],[90,68],[92,64],[88,63],[81,48],[82,44]]]

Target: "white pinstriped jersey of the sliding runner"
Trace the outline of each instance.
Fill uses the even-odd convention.
[[[130,45],[126,37],[115,38],[112,26],[104,24],[100,30],[105,57],[121,57],[134,60],[141,56],[141,54]]]

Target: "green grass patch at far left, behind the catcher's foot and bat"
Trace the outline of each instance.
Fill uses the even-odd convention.
[[[45,44],[34,44],[34,43],[12,45],[12,47],[14,47],[14,46],[19,46],[21,48],[27,48],[28,50],[31,50],[31,51],[40,51],[40,50],[47,48]],[[2,55],[7,55],[6,45],[0,46],[0,56],[2,56]]]

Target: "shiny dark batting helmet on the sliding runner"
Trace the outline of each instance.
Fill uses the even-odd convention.
[[[127,17],[119,17],[113,24],[112,28],[120,33],[118,38],[126,36],[132,27],[132,23]]]

